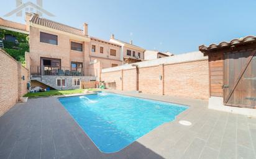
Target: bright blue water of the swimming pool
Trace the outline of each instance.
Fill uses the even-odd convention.
[[[60,102],[104,153],[121,150],[188,108],[104,92]]]

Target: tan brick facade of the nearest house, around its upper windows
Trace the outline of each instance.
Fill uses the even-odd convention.
[[[58,36],[58,45],[50,45],[48,43],[40,42],[40,32],[50,33]],[[50,32],[47,30],[42,30],[40,28],[30,27],[30,59],[31,66],[40,66],[40,58],[56,58],[61,60],[62,67],[71,67],[71,62],[83,62],[83,68],[85,74],[88,74],[89,65],[89,43],[83,43],[83,51],[73,51],[70,49],[72,40],[68,35],[63,35],[60,33]],[[86,56],[85,56],[86,54]],[[26,56],[27,58],[27,56]]]

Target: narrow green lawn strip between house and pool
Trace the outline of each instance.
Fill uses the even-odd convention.
[[[88,89],[91,91],[97,90],[97,89]],[[54,95],[69,95],[73,93],[83,93],[85,89],[75,89],[75,90],[50,90],[47,92],[37,92],[37,93],[27,93],[23,97],[50,97]]]

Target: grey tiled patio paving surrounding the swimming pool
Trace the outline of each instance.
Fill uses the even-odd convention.
[[[57,97],[19,103],[0,118],[0,158],[255,158],[256,119],[208,110],[207,101],[121,92],[190,105],[117,153],[101,153]],[[183,126],[179,120],[192,122]]]

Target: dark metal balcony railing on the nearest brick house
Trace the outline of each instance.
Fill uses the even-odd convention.
[[[30,66],[31,75],[83,76],[83,71],[70,70],[70,67]]]

